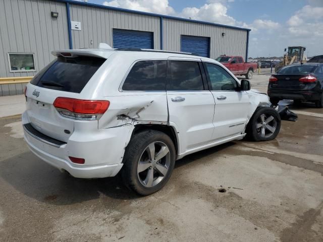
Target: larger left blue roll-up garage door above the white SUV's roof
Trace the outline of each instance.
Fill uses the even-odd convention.
[[[113,47],[153,49],[153,32],[114,29]]]

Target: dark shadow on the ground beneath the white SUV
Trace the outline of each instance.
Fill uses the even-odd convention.
[[[188,155],[176,162],[174,171],[232,145],[234,143],[230,142]],[[97,179],[75,178],[50,166],[31,152],[1,161],[0,178],[19,193],[53,205],[82,203],[102,196],[111,203],[140,198],[123,185],[119,174]],[[2,189],[0,186],[0,192]]]

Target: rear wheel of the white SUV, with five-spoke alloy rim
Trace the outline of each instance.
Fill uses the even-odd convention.
[[[135,134],[123,159],[124,184],[143,196],[157,192],[171,177],[175,157],[174,143],[165,133],[148,130]]]

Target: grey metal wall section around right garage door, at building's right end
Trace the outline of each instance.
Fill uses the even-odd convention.
[[[222,33],[226,33],[222,36]],[[210,38],[210,58],[221,54],[246,57],[247,31],[164,18],[164,49],[181,50],[181,35]]]

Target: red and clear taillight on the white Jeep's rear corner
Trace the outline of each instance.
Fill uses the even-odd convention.
[[[110,101],[58,97],[53,105],[62,116],[80,120],[97,120],[109,108]]]

